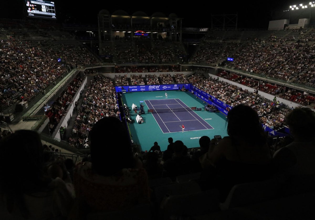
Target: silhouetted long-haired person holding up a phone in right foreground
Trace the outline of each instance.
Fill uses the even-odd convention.
[[[240,125],[246,128],[246,135]],[[229,136],[219,143],[212,142],[208,153],[201,157],[201,187],[218,188],[221,201],[235,184],[269,179],[273,174],[267,134],[252,107],[239,104],[229,111],[227,133]]]

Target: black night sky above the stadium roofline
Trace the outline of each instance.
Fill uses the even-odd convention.
[[[68,15],[75,19],[75,23],[97,24],[97,14],[101,9],[106,9],[112,14],[116,10],[125,10],[129,15],[143,11],[148,16],[155,12],[162,12],[166,16],[175,13],[183,18],[183,27],[211,27],[211,15],[237,14],[238,28],[267,28],[272,20],[272,13],[276,9],[288,8],[295,1],[255,1],[244,3],[240,1],[200,1],[198,3],[183,2],[158,2],[158,1],[122,1],[116,4],[108,1],[73,1],[56,0],[58,22],[63,21],[63,16]],[[24,19],[24,0],[11,0],[0,6],[0,17],[9,19]]]

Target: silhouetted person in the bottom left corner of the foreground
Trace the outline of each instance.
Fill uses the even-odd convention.
[[[0,149],[1,218],[66,219],[73,198],[61,178],[45,175],[38,133],[17,130],[1,140]]]

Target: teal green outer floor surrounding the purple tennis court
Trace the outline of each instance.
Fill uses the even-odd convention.
[[[154,141],[157,141],[158,145],[161,147],[161,151],[165,151],[169,144],[168,143],[169,137],[172,137],[174,141],[182,140],[188,148],[192,148],[192,147],[199,146],[199,139],[203,135],[207,135],[210,138],[213,138],[214,135],[221,135],[222,137],[227,136],[226,117],[224,115],[217,112],[204,111],[205,104],[190,92],[182,92],[182,91],[177,90],[177,91],[168,91],[167,93],[169,95],[167,99],[165,98],[165,95],[164,95],[165,91],[126,92],[122,94],[123,103],[129,106],[130,110],[133,103],[136,105],[139,105],[140,103],[144,104],[145,114],[141,115],[144,118],[144,123],[142,124],[136,123],[135,121],[136,114],[132,113],[131,119],[133,120],[133,123],[129,124],[129,129],[132,134],[132,140],[134,141],[135,144],[140,146],[141,150],[143,151],[150,150],[151,146],[153,146]],[[174,102],[172,102],[173,99],[174,101],[178,99],[181,100],[184,103],[183,106],[201,107],[202,111],[195,111],[195,110],[189,111],[190,116],[188,117],[191,117],[191,113],[193,113],[193,115],[196,114],[198,115],[198,117],[196,116],[196,118],[198,118],[198,121],[207,122],[207,124],[210,124],[211,127],[213,127],[213,129],[202,128],[201,130],[198,130],[200,128],[197,129],[191,126],[190,124],[192,123],[187,118],[183,118],[182,116],[179,116],[182,113],[175,112],[175,114],[178,115],[181,120],[185,120],[185,123],[181,122],[178,118],[176,118],[175,129],[177,130],[172,131],[172,132],[166,131],[167,133],[164,133],[160,127],[161,126],[160,124],[163,124],[162,121],[171,122],[172,120],[174,120],[175,116],[173,116],[172,119],[170,120],[169,119],[166,120],[167,117],[171,117],[170,116],[171,113],[168,113],[168,112],[163,113],[163,114],[169,114],[169,115],[162,116],[163,120],[159,119],[160,122],[157,123],[157,120],[155,119],[154,116],[161,115],[161,113],[158,113],[158,114],[151,113],[151,112],[148,113],[147,112],[148,109],[152,108],[153,106],[149,102],[145,103],[142,101],[161,100],[161,105],[166,105],[166,104],[169,105],[169,103],[175,104]],[[157,104],[157,106],[154,105],[154,107],[156,109],[159,109],[158,107],[159,103],[156,102],[152,104]],[[174,111],[175,106],[179,107],[178,105],[174,105],[173,111]],[[187,113],[184,113],[184,114],[186,115]],[[200,118],[202,118],[202,120]],[[184,133],[181,132],[181,128],[179,127],[180,124],[185,125]]]

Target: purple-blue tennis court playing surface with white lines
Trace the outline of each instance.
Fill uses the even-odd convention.
[[[214,129],[193,110],[188,110],[190,108],[180,99],[154,99],[144,100],[144,102],[148,109],[157,110],[158,113],[154,111],[152,115],[163,133],[182,132],[181,124],[184,124],[185,132]]]

